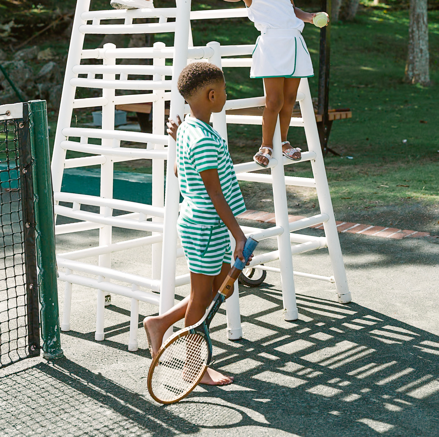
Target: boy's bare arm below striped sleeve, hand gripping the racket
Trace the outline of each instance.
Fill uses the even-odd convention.
[[[209,194],[210,200],[212,201],[212,204],[219,215],[219,218],[230,230],[236,241],[234,253],[235,258],[237,257],[241,261],[244,261],[242,250],[244,249],[247,239],[239,227],[229,204],[224,198],[223,190],[221,190],[221,183],[219,182],[218,170],[216,168],[210,168],[209,170],[200,172],[200,176],[203,180],[204,186],[206,187],[206,191]]]

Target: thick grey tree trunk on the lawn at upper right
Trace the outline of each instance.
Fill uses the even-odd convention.
[[[409,46],[405,79],[410,83],[430,84],[428,71],[427,0],[410,0]]]

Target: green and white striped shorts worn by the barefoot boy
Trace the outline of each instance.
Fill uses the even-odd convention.
[[[225,225],[195,225],[179,218],[177,232],[191,272],[216,276],[223,262],[232,262],[230,236]]]

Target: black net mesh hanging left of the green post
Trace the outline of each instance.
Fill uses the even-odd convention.
[[[0,121],[0,367],[29,355],[18,124]]]

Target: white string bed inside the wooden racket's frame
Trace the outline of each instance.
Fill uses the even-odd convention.
[[[209,350],[199,334],[180,337],[159,358],[151,378],[156,398],[173,402],[187,394],[201,376]]]

